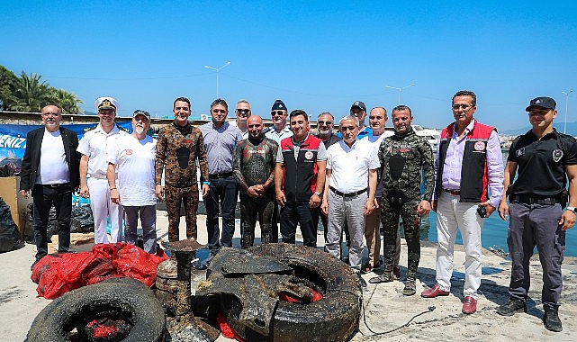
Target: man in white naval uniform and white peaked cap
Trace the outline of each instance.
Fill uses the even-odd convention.
[[[80,195],[90,197],[95,219],[95,243],[108,243],[106,218],[110,217],[110,242],[122,241],[122,206],[110,199],[106,181],[106,145],[128,132],[114,124],[119,103],[113,97],[99,97],[95,101],[100,122],[86,131],[78,143],[80,158]],[[88,178],[86,180],[86,177]]]

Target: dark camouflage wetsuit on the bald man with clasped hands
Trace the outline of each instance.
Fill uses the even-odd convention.
[[[275,165],[278,144],[275,140],[244,139],[234,149],[232,170],[240,186],[240,212],[245,220],[243,248],[251,247],[255,240],[257,215],[260,222],[261,242],[272,240],[272,220],[275,208]],[[249,186],[263,184],[266,191],[258,197],[247,194]]]

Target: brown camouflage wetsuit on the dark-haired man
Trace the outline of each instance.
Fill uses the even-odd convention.
[[[165,169],[165,196],[168,213],[168,241],[178,241],[180,204],[185,202],[186,238],[196,238],[198,184],[196,159],[203,179],[208,179],[208,163],[203,133],[190,122],[181,127],[172,122],[158,132],[156,184]]]

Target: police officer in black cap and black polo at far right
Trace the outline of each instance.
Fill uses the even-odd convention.
[[[565,230],[575,223],[577,205],[577,143],[554,129],[555,105],[550,97],[531,100],[526,111],[533,128],[515,139],[509,148],[503,182],[508,190],[500,201],[499,215],[503,220],[510,215],[507,238],[512,261],[510,298],[497,312],[503,316],[527,312],[529,258],[536,246],[543,267],[543,322],[545,329],[558,332],[563,329],[557,311],[563,287]],[[510,185],[516,172],[518,178]],[[567,204],[567,177],[569,206],[563,211]]]

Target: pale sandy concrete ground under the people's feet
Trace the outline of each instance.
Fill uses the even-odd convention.
[[[158,237],[167,240],[166,211],[158,211]],[[184,218],[181,220],[181,234],[184,232]],[[206,243],[205,216],[199,215],[199,242]],[[487,227],[486,227],[487,229]],[[258,235],[257,235],[258,236]],[[90,234],[75,238],[78,242],[73,248],[86,250]],[[300,238],[297,235],[297,239]],[[301,239],[302,240],[302,239]],[[323,245],[322,234],[319,246]],[[239,229],[234,239],[239,246]],[[457,248],[458,249],[458,248]],[[36,315],[50,302],[36,298],[36,284],[30,280],[30,266],[34,260],[35,247],[24,247],[0,254],[2,276],[0,276],[0,341],[23,341]],[[361,317],[360,330],[353,341],[574,341],[577,338],[577,260],[565,258],[563,262],[563,294],[559,310],[563,321],[563,332],[554,333],[543,327],[543,305],[541,304],[542,272],[538,258],[531,260],[532,287],[527,302],[529,311],[512,317],[501,317],[495,309],[507,301],[509,295],[510,261],[490,251],[484,251],[482,296],[477,312],[473,315],[461,313],[464,284],[464,253],[455,252],[455,272],[453,274],[451,294],[436,299],[419,296],[423,290],[435,284],[434,245],[421,248],[421,261],[417,282],[417,295],[406,297],[401,294],[403,284],[368,284],[364,292],[364,316]],[[407,265],[406,246],[402,246],[401,275]],[[364,275],[368,281],[374,274]],[[195,278],[202,278],[202,274]],[[433,311],[429,307],[434,306]],[[411,318],[421,314],[408,324]],[[400,328],[401,327],[401,328]],[[400,328],[400,329],[398,329]],[[396,329],[394,331],[391,331]],[[391,332],[389,332],[391,331]],[[378,334],[377,334],[378,333]],[[228,341],[219,338],[219,341]]]

